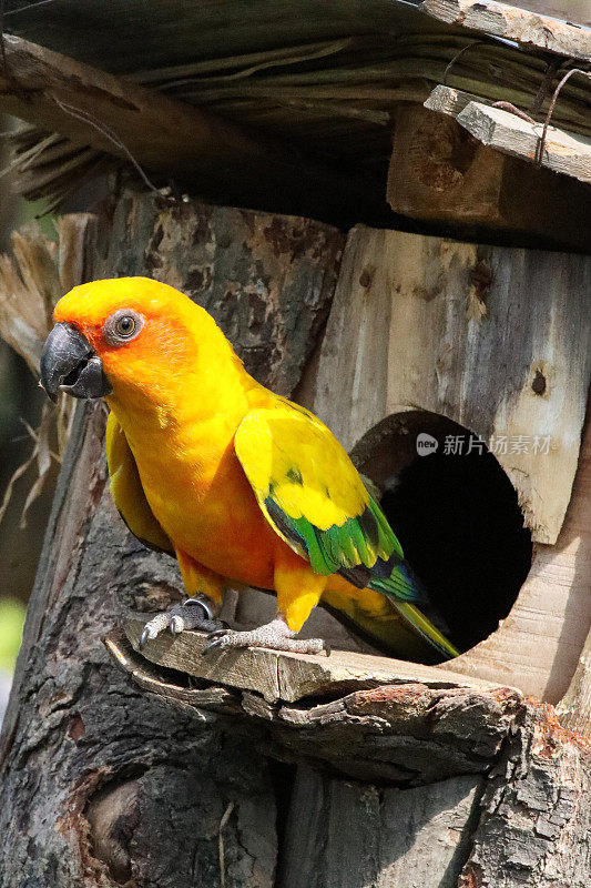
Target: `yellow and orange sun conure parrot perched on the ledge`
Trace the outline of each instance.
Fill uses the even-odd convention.
[[[322,602],[389,653],[457,655],[344,448],[249,376],[206,311],[122,278],[74,287],[54,320],[42,384],[52,398],[106,400],[115,504],[142,543],[176,556],[190,596],[151,619],[144,642],[202,628],[210,647],[319,653],[322,639],[295,636]],[[269,624],[221,627],[224,589],[241,585],[275,592]]]

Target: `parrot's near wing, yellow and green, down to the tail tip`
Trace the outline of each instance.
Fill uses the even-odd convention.
[[[251,411],[234,440],[258,505],[317,574],[340,574],[386,595],[446,657],[458,652],[415,606],[430,609],[379,505],[333,433],[304,407],[276,397]]]

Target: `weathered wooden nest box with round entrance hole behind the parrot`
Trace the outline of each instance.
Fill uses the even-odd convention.
[[[1,888],[587,888],[589,28],[493,0],[115,2],[105,42],[42,30],[51,6],[4,38],[17,184],[68,209],[101,174],[101,202],[14,235],[2,336],[34,367],[75,283],[186,292],[350,452],[465,653],[384,657],[322,608],[330,657],[140,653],[180,577],[124,531],[84,405],[3,726]]]

